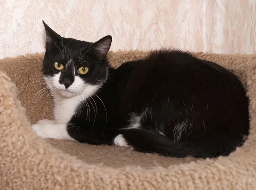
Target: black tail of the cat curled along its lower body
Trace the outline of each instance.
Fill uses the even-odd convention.
[[[146,153],[159,153],[169,157],[217,157],[219,155],[229,155],[236,147],[224,148],[224,144],[219,142],[204,141],[184,141],[174,142],[171,138],[159,134],[156,131],[144,129],[120,130],[128,144],[134,150]],[[219,145],[218,145],[219,144]]]

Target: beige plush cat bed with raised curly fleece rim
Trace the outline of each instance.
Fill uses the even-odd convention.
[[[146,52],[109,52],[117,67]],[[0,189],[255,189],[256,55],[195,53],[233,70],[250,97],[250,135],[228,157],[196,160],[39,138],[31,123],[49,118],[43,54],[0,60]],[[218,93],[218,92],[217,92]],[[25,108],[25,109],[24,109]]]

